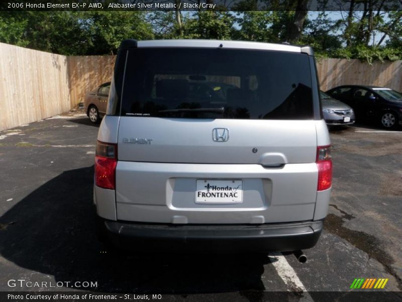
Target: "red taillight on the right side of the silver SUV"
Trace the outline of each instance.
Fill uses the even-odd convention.
[[[331,146],[317,147],[318,185],[317,190],[327,190],[332,185]]]

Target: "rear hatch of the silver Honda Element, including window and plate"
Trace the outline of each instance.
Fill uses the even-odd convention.
[[[313,219],[323,121],[314,113],[310,59],[246,49],[131,49],[118,132],[118,219]]]

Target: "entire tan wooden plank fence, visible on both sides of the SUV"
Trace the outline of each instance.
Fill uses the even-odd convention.
[[[62,56],[0,43],[0,130],[66,112],[112,78],[116,56]],[[402,91],[402,60],[374,62],[323,59],[321,89],[343,84]]]

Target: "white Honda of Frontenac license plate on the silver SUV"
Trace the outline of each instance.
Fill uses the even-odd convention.
[[[240,203],[242,201],[242,180],[197,179],[195,190],[197,203]]]

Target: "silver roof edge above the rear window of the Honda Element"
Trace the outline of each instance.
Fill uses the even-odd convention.
[[[156,48],[156,47],[194,47],[194,48],[236,48],[254,50],[274,50],[286,52],[306,53],[314,55],[310,46],[294,46],[289,44],[274,44],[247,41],[227,41],[227,40],[124,40],[120,49],[128,48]]]

